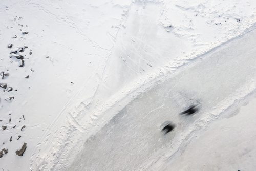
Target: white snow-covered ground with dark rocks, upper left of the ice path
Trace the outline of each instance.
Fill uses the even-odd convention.
[[[256,22],[255,7],[252,0],[2,0],[0,72],[10,75],[1,83],[14,91],[0,91],[0,126],[7,126],[0,150],[8,148],[0,168],[61,170],[77,141],[116,114],[106,110],[126,98],[121,109],[144,83],[246,31]],[[9,57],[24,46],[20,68]]]

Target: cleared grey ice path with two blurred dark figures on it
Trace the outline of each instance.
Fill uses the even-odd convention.
[[[255,45],[253,30],[178,69],[87,140],[68,170],[148,170],[183,150],[184,142],[196,131],[255,89]],[[200,105],[197,114],[179,115],[195,103]],[[161,125],[165,121],[176,127],[164,136]]]

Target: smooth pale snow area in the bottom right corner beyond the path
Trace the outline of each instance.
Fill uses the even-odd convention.
[[[254,92],[245,100],[249,104],[228,110],[223,118],[198,134],[185,151],[155,165],[154,170],[254,170],[255,97]]]

